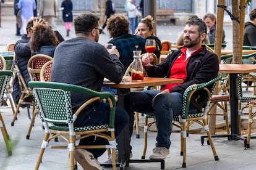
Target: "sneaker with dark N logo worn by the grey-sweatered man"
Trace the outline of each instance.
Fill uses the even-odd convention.
[[[102,170],[100,163],[94,158],[93,154],[84,149],[76,149],[74,151],[74,159],[83,169],[86,170]]]

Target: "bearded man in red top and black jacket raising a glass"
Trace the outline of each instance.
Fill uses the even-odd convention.
[[[183,79],[183,83],[167,84],[161,91],[130,92],[130,111],[153,114],[156,117],[158,134],[152,160],[163,160],[169,155],[171,145],[171,123],[174,115],[182,113],[182,95],[192,84],[210,81],[218,75],[219,62],[213,54],[202,45],[207,35],[207,26],[200,18],[189,20],[184,28],[184,47],[168,54],[159,65],[145,66],[150,77]],[[147,64],[147,58],[142,59]],[[203,95],[201,95],[203,96]],[[204,101],[198,99],[198,101]],[[202,111],[203,103],[190,105],[189,112]],[[131,120],[130,120],[131,121]]]

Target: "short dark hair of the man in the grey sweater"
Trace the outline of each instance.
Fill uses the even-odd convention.
[[[75,17],[75,33],[89,34],[93,28],[97,28],[100,20],[99,17],[93,14],[81,14]]]

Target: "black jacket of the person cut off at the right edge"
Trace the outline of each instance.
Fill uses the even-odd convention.
[[[246,22],[244,27],[244,46],[256,46],[256,26],[251,22]]]

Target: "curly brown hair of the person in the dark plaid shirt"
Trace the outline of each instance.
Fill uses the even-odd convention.
[[[122,14],[111,15],[107,21],[107,30],[110,38],[116,38],[129,33],[130,22]]]

